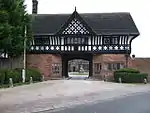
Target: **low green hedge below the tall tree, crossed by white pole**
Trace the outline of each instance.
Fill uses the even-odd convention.
[[[26,82],[42,81],[40,72],[36,69],[26,69]],[[12,78],[13,83],[22,82],[22,69],[0,69],[0,85],[9,84],[9,78]]]

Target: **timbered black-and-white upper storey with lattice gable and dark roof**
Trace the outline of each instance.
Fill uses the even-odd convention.
[[[46,25],[46,20],[42,17],[44,19],[55,18],[47,19]],[[61,24],[58,23],[61,21],[60,17],[63,20]],[[43,21],[43,25],[37,25],[39,21],[41,24]],[[51,25],[48,26],[50,23]],[[44,25],[45,31],[42,28]],[[56,29],[56,26],[59,29]],[[52,28],[56,30],[48,32]],[[46,15],[45,17],[34,15],[33,31],[35,32],[30,53],[130,54],[131,42],[139,35],[129,13],[93,14],[93,16],[92,14],[81,14],[80,16],[76,10],[71,16],[65,14]]]

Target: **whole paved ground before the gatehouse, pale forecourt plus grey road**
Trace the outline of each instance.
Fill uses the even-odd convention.
[[[89,79],[50,80],[0,89],[0,113],[50,113],[51,110],[63,108],[69,109],[53,111],[53,113],[94,113],[97,111],[97,113],[109,113],[106,110],[113,111],[117,110],[116,108],[132,110],[131,104],[134,105],[134,110],[136,107],[137,110],[141,109],[140,105],[146,110],[150,106],[150,96],[148,96],[150,94],[144,94],[144,92],[148,91],[150,91],[150,84],[118,84]],[[143,93],[142,96],[132,97],[133,99],[117,99],[139,93]],[[116,101],[104,102],[110,99]],[[103,103],[87,105],[102,101]],[[75,106],[79,107],[73,108]],[[100,112],[102,110],[104,112]],[[111,113],[117,113],[117,111]]]

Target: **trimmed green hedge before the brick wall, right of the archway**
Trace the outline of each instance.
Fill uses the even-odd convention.
[[[144,79],[148,78],[147,73],[139,73],[139,71],[134,69],[120,70],[114,72],[114,79],[116,82],[119,82],[119,78],[121,78],[123,83],[143,83]]]

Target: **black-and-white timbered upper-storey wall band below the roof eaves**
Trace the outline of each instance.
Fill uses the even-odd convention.
[[[75,42],[75,38],[77,38],[77,42]],[[109,39],[108,43],[104,41],[105,38]],[[36,35],[34,38],[36,43],[32,43],[30,52],[73,53],[76,51],[79,53],[122,54],[126,53],[125,50],[128,49],[130,53],[133,38],[134,36],[130,35]],[[64,49],[62,47],[64,47]],[[74,50],[72,48],[74,48]]]

